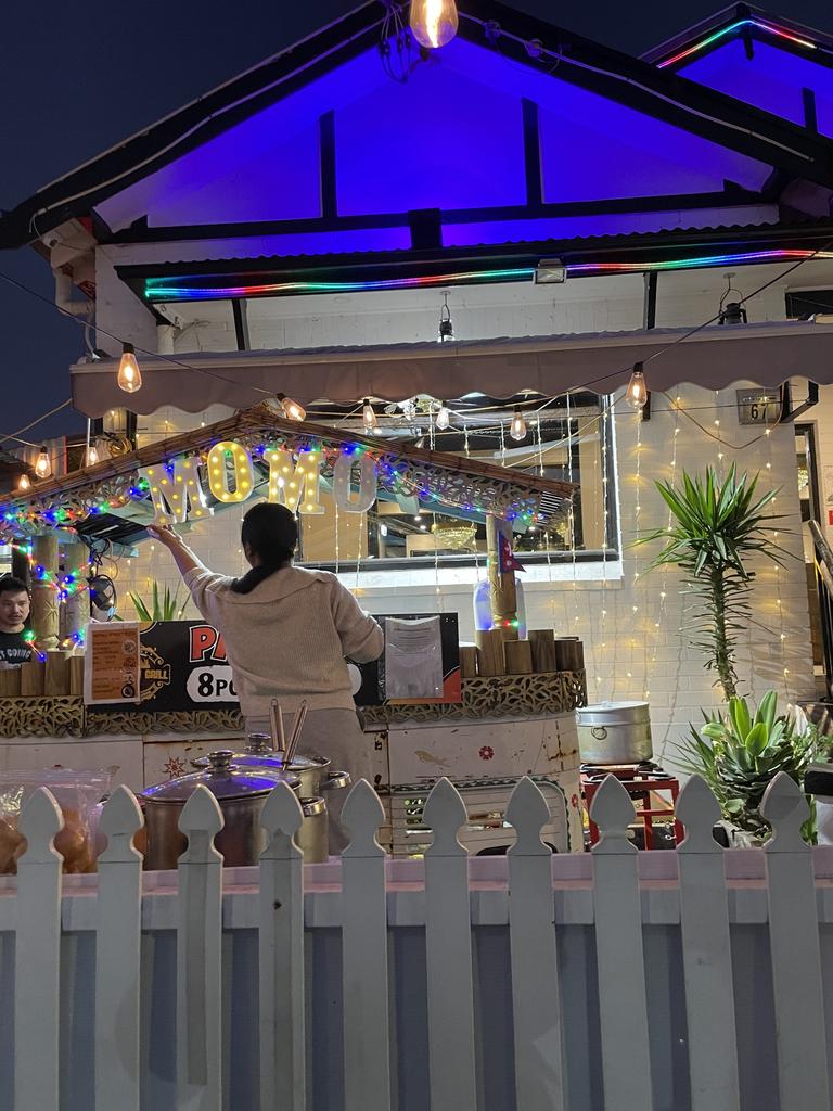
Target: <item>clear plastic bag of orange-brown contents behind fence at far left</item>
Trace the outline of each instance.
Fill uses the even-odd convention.
[[[27,799],[39,787],[48,788],[61,808],[63,829],[57,834],[54,847],[63,857],[63,871],[94,872],[99,803],[109,793],[111,780],[112,770],[106,768],[0,772],[0,875],[17,873],[18,860],[26,851],[18,819]]]

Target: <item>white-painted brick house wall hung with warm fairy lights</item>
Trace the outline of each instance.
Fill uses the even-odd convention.
[[[766,267],[745,268],[734,283],[749,292],[775,272]],[[830,263],[811,263],[800,273],[803,288],[833,286]],[[662,274],[658,326],[701,323],[715,311],[724,288],[724,277],[714,270]],[[785,289],[785,282],[776,283],[756,298],[750,304],[751,319],[783,318]],[[461,337],[468,338],[473,334],[468,324],[463,327],[463,321],[468,320],[476,320],[476,328],[484,336],[639,328],[642,323],[641,294],[642,279],[629,276],[549,288],[514,286],[454,290],[450,301],[455,329]],[[122,297],[131,298],[132,294],[123,290]],[[113,291],[110,302],[112,300]],[[440,302],[436,291],[431,291],[430,297],[425,291],[408,291],[380,298],[361,294],[351,299],[262,302],[258,310],[262,314],[258,324],[261,331],[253,330],[252,342],[254,346],[259,337],[258,346],[271,348],[425,339],[426,329],[435,328]],[[404,311],[405,304],[411,306],[408,311]],[[200,312],[211,308],[181,306],[178,311],[191,311],[199,319]],[[208,313],[204,319],[208,321]],[[212,346],[195,343],[195,337],[210,339],[218,344],[214,349],[233,347],[233,338],[227,336],[222,324],[218,327],[218,314],[211,319],[211,328],[203,329],[202,334],[195,324],[190,339],[184,337],[183,342],[190,350]],[[103,316],[99,322],[110,328]],[[180,353],[185,349],[177,350]],[[668,511],[653,487],[654,479],[668,479],[673,474],[679,479],[683,469],[702,471],[709,462],[725,473],[735,462],[740,471],[761,472],[762,491],[773,484],[782,486],[775,507],[784,514],[779,540],[790,554],[781,569],[771,563],[757,569],[753,621],[739,650],[741,687],[756,698],[774,687],[790,701],[812,699],[815,693],[793,429],[779,427],[765,436],[760,429],[741,427],[735,407],[739,384],[742,383],[733,383],[719,393],[684,384],[679,389],[681,412],[673,411],[672,399],[654,396],[651,419],[641,426],[630,409],[619,404],[614,429],[621,560],[609,563],[606,569],[600,564],[553,564],[550,569],[531,569],[523,577],[530,628],[553,627],[561,634],[578,634],[584,640],[593,700],[646,697],[651,702],[654,750],[669,764],[673,763],[673,743],[684,734],[688,722],[697,721],[701,708],[709,709],[719,700],[712,687],[713,677],[703,669],[701,653],[680,634],[690,613],[686,607],[691,600],[681,595],[682,583],[676,573],[658,570],[645,574],[655,549],[631,547],[640,528],[650,530],[668,523]],[[796,392],[801,393],[800,387]],[[821,461],[829,459],[833,464],[833,432],[830,431],[833,421],[824,419],[831,406],[833,388],[823,392],[823,403],[811,410],[806,419],[817,423]],[[202,419],[209,423],[224,412],[212,410]],[[147,442],[192,424],[193,418],[188,414],[160,410],[150,418],[140,419],[140,432]],[[641,443],[639,451],[638,442]],[[224,511],[212,521],[197,523],[190,533],[190,542],[204,561],[227,574],[239,574],[243,569],[239,543],[241,509],[244,507]],[[478,573],[474,569],[435,570],[431,567],[357,574],[355,557],[349,543],[342,546],[340,572],[343,581],[357,590],[365,609],[377,613],[456,611],[462,639],[472,638],[471,597]],[[480,573],[484,573],[482,568]],[[177,574],[167,552],[144,544],[137,559],[121,562],[117,585],[123,599],[127,590],[138,589],[145,593],[153,581],[173,587]],[[122,612],[130,612],[129,602],[122,603]],[[190,603],[185,612],[191,612]]]

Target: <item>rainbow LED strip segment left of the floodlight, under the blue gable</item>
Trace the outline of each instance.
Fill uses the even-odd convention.
[[[165,286],[164,278],[149,278],[144,283],[144,296],[151,301],[205,301],[269,293],[360,293],[381,289],[413,289],[476,281],[529,281],[534,273],[534,268],[525,267],[521,270],[472,270],[466,273],[385,278],[379,281],[284,281],[263,286],[214,286],[210,289],[201,286]]]

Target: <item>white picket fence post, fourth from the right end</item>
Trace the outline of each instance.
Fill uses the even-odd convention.
[[[509,938],[518,1111],[563,1111],[561,989],[552,850],[541,840],[550,808],[524,777],[505,811],[518,834],[509,849]]]

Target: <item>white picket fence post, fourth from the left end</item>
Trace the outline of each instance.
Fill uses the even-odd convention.
[[[260,855],[260,1105],[304,1111],[303,854],[294,842],[303,811],[279,783],[261,814],[268,833]]]

